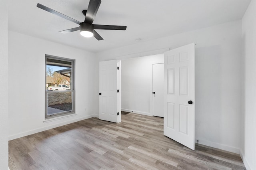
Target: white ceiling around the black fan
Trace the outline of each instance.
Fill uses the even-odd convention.
[[[98,52],[239,20],[251,0],[102,0],[93,24],[127,26],[126,31],[97,30],[104,40],[84,38],[78,27],[36,7],[52,8],[80,22],[89,0],[9,0],[8,29],[14,32]]]

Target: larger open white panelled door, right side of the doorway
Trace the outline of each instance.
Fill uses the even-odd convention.
[[[164,53],[164,135],[195,149],[195,45]]]

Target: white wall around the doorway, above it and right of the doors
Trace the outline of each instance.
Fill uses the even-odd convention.
[[[97,55],[100,61],[126,55],[139,57],[145,51],[154,53],[157,49],[173,49],[192,42],[196,43],[196,140],[239,153],[241,21],[140,42]]]

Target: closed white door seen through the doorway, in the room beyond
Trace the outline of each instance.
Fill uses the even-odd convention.
[[[153,116],[164,117],[164,63],[153,64]]]

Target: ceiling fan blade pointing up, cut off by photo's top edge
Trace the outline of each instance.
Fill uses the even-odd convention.
[[[101,0],[90,0],[84,22],[92,24],[100,7],[100,3]]]

